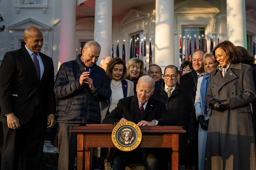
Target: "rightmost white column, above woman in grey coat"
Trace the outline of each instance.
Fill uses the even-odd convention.
[[[227,33],[235,46],[247,48],[245,0],[227,0]]]

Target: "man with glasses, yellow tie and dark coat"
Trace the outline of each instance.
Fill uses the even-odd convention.
[[[178,126],[183,126],[186,134],[179,135],[179,165],[189,169],[191,162],[191,148],[197,148],[197,124],[194,112],[194,99],[192,93],[178,83],[180,75],[174,65],[165,67],[164,82],[155,88],[153,98],[162,101],[170,115],[177,121]],[[190,166],[191,167],[191,166]]]

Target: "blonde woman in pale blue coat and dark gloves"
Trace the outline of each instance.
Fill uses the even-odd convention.
[[[207,137],[207,128],[209,122],[209,108],[205,106],[204,98],[206,96],[208,84],[209,84],[209,73],[214,71],[218,64],[212,53],[206,53],[203,56],[204,70],[205,73],[198,79],[197,82],[197,93],[195,99],[196,117],[199,123],[198,128],[198,169],[203,170],[205,146]]]

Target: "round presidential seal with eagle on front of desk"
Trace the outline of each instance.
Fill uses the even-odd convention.
[[[117,124],[112,131],[112,142],[121,151],[131,151],[137,148],[141,137],[140,128],[131,121]]]

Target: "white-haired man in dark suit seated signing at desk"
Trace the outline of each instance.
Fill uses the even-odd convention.
[[[172,126],[176,121],[165,109],[165,103],[151,97],[155,81],[150,76],[138,80],[137,95],[120,99],[117,107],[103,119],[103,124],[132,121],[138,126]],[[113,170],[125,170],[133,161],[144,161],[147,170],[160,170],[159,149],[134,149],[130,152],[115,149],[110,164]]]

